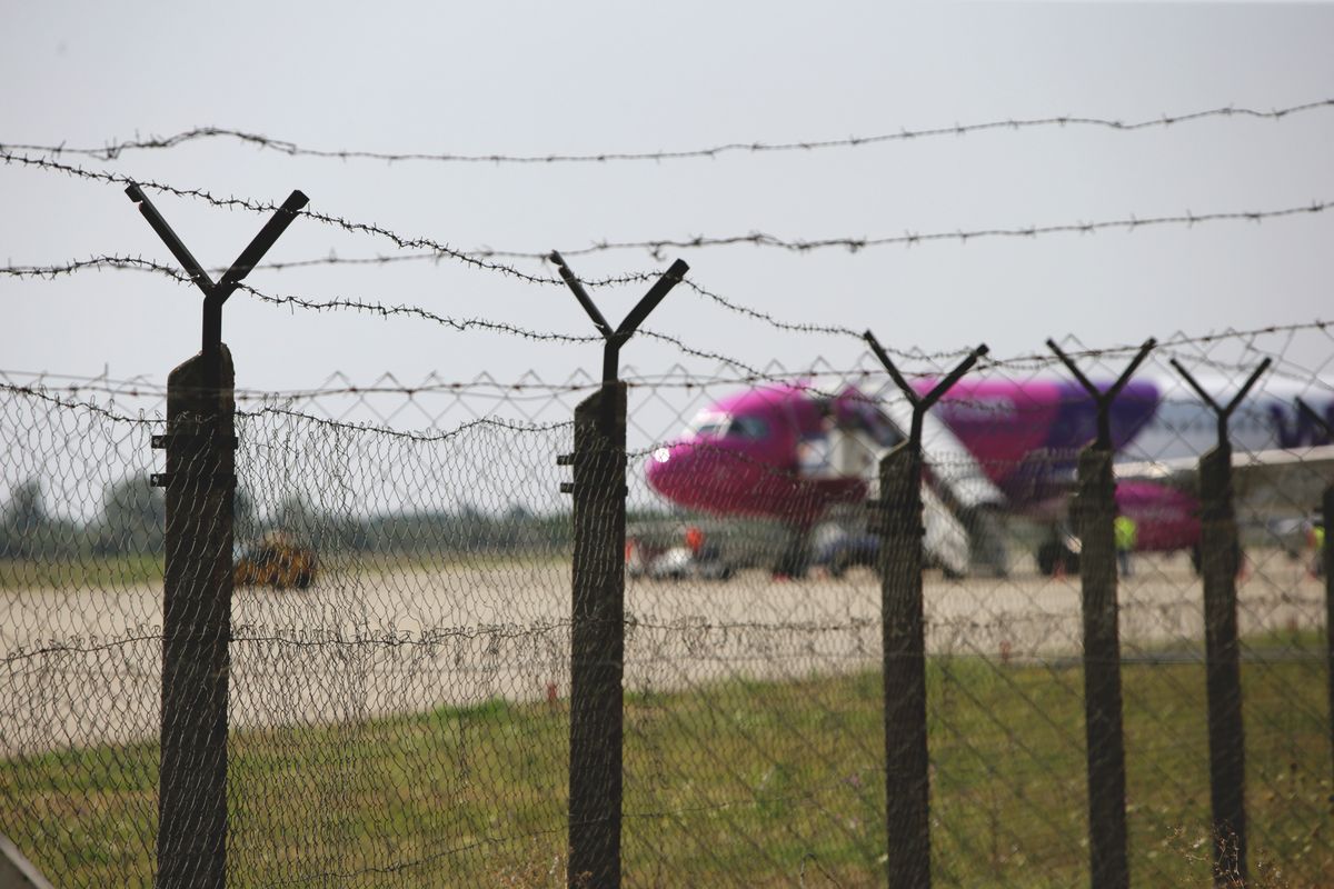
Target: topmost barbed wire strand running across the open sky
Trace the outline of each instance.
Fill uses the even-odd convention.
[[[192,141],[205,140],[232,140],[253,145],[260,149],[275,151],[289,156],[327,157],[335,160],[378,160],[386,163],[431,161],[431,163],[464,163],[464,164],[606,164],[614,161],[667,161],[704,159],[712,160],[723,155],[735,153],[791,153],[814,152],[835,148],[863,148],[886,143],[912,141],[939,136],[967,136],[986,131],[1026,131],[1043,128],[1098,128],[1114,132],[1131,133],[1146,129],[1166,129],[1177,124],[1194,123],[1207,119],[1254,119],[1254,120],[1283,120],[1294,115],[1323,111],[1334,105],[1334,99],[1321,99],[1317,101],[1287,105],[1263,111],[1237,105],[1209,108],[1177,115],[1161,115],[1137,121],[1125,121],[1111,117],[1090,117],[1078,115],[1053,115],[1047,117],[1009,117],[1005,120],[990,120],[974,124],[952,124],[947,127],[927,127],[919,129],[899,129],[870,136],[846,136],[840,139],[815,139],[782,143],[762,141],[734,141],[711,145],[707,148],[686,148],[678,151],[652,152],[591,152],[591,153],[546,153],[546,155],[507,155],[507,153],[450,153],[450,152],[376,152],[364,149],[329,149],[307,148],[297,143],[273,139],[260,133],[252,133],[227,127],[196,127],[172,136],[151,136],[148,139],[112,140],[101,148],[73,148],[64,143],[59,145],[36,144],[8,144],[0,143],[0,149],[5,151],[33,151],[45,155],[61,156],[76,155],[96,157],[101,160],[116,160],[128,151],[168,149]]]

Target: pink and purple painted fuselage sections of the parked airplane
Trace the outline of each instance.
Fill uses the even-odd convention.
[[[1153,419],[1158,400],[1149,383],[1123,389],[1111,413],[1115,449]],[[1075,383],[963,380],[934,413],[1005,493],[1009,508],[1039,520],[1061,514],[1078,452],[1097,436],[1093,400]],[[870,429],[882,446],[902,439],[855,389],[827,400],[803,385],[763,387],[720,400],[702,412],[695,431],[658,448],[648,460],[648,482],[691,509],[774,517],[810,528],[831,505],[867,494],[860,477],[800,472],[802,441],[823,433],[827,415],[840,425]],[[1183,492],[1121,482],[1117,501],[1139,526],[1138,549],[1182,549],[1199,538],[1198,505]]]

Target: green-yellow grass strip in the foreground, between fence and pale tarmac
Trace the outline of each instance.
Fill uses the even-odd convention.
[[[1323,640],[1243,665],[1255,885],[1334,885]],[[1257,644],[1254,648],[1259,649]],[[1123,670],[1131,881],[1207,886],[1203,668]],[[928,668],[936,885],[1087,885],[1078,668]],[[626,702],[627,885],[883,884],[879,676]],[[232,736],[233,886],[564,885],[568,709],[488,701]],[[60,886],[148,885],[155,744],[0,764],[0,830]]]

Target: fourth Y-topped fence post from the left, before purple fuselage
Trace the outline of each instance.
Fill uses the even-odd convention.
[[[1098,437],[1079,452],[1070,509],[1082,549],[1085,734],[1089,768],[1089,864],[1094,889],[1127,889],[1126,741],[1121,702],[1121,634],[1117,604],[1117,482],[1113,476],[1111,405],[1155,345],[1146,341],[1106,392],[1079,371],[1054,340],[1047,347],[1093,397]]]

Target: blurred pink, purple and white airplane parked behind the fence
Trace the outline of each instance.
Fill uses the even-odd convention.
[[[932,383],[918,385],[924,392]],[[1215,444],[1217,425],[1198,400],[1165,399],[1166,388],[1134,380],[1113,405],[1114,450],[1154,457],[1118,465],[1117,505],[1137,524],[1137,550],[1187,550],[1198,564],[1193,472],[1198,454]],[[1306,400],[1334,424],[1334,387],[1323,392]],[[806,383],[764,385],[706,408],[679,440],[654,449],[647,481],[679,506],[778,520],[788,541],[774,573],[800,576],[811,529],[840,505],[874,494],[875,465],[903,441],[910,420],[906,401],[876,403],[855,387],[830,395]],[[952,574],[1005,574],[1000,516],[1018,516],[1046,528],[1035,553],[1043,573],[1078,570],[1067,513],[1078,453],[1095,435],[1097,409],[1074,381],[960,380],[923,428],[927,556]],[[1238,408],[1230,439],[1242,480],[1247,472],[1259,480],[1250,485],[1255,492],[1277,492],[1277,474],[1299,470],[1295,485],[1271,497],[1287,514],[1301,508],[1295,504],[1315,502],[1314,486],[1334,477],[1329,435],[1273,389]],[[1263,476],[1258,468],[1266,468]]]

